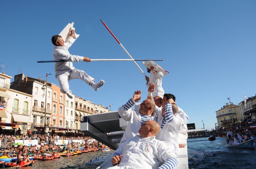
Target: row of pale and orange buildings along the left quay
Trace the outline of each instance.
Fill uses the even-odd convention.
[[[108,107],[81,97],[74,95],[70,99],[60,92],[59,86],[52,83],[47,83],[46,93],[46,81],[40,78],[17,74],[10,83],[11,78],[0,73],[1,123],[15,123],[18,125],[15,127],[22,130],[33,130],[45,124],[50,128],[79,130],[84,115],[108,112]]]

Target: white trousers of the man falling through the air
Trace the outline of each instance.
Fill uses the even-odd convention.
[[[73,79],[81,79],[88,85],[91,81],[94,81],[94,78],[86,74],[83,70],[78,69],[72,69],[70,71],[67,71],[63,74],[58,75],[56,78],[59,81],[60,91],[65,94],[68,93],[69,90],[68,81],[71,81]]]

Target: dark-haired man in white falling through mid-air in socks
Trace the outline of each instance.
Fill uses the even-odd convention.
[[[69,98],[73,98],[71,91],[69,90],[68,81],[72,79],[81,79],[92,88],[97,91],[105,81],[101,80],[98,83],[94,83],[94,78],[86,74],[83,70],[78,70],[73,67],[72,62],[86,61],[90,62],[90,58],[71,55],[68,52],[68,48],[73,44],[75,39],[73,38],[75,30],[71,30],[68,41],[65,43],[60,35],[52,36],[53,58],[54,60],[66,60],[66,62],[55,62],[55,77],[59,81],[60,91],[67,94]]]

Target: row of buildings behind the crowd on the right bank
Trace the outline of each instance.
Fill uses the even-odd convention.
[[[216,111],[218,127],[228,126],[229,123],[255,123],[256,122],[256,95],[249,97],[238,105],[226,103],[223,108]]]

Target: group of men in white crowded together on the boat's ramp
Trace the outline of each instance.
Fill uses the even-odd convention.
[[[188,138],[188,115],[180,109],[172,94],[164,94],[163,74],[147,68],[148,97],[142,103],[141,91],[118,109],[128,122],[119,147],[114,151],[112,168],[174,168],[178,164],[179,143]],[[153,95],[152,95],[153,94]],[[132,109],[134,107],[134,109]]]

